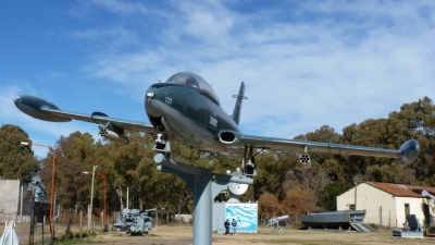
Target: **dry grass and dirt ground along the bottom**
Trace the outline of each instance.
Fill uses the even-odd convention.
[[[1,228],[3,231],[4,228]],[[61,228],[57,236],[61,235]],[[28,244],[28,232],[25,226],[17,228],[20,244]],[[270,234],[266,228],[260,228],[256,234],[219,235],[213,233],[213,245],[243,245],[243,244],[434,244],[435,238],[402,238],[393,237],[391,231],[375,231],[361,233],[356,231],[306,231],[285,229],[285,234]],[[46,235],[46,238],[48,234]],[[39,241],[39,242],[38,242]],[[47,240],[46,240],[47,241]],[[40,236],[35,236],[35,244],[41,244]],[[48,244],[46,242],[46,244]],[[62,243],[57,243],[62,244]],[[147,236],[128,236],[125,232],[100,233],[90,238],[76,238],[74,244],[109,244],[109,245],[190,245],[192,244],[191,225],[160,225]]]

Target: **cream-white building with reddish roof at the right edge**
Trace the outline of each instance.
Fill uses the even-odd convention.
[[[434,187],[365,182],[337,197],[337,210],[366,210],[364,223],[403,228],[406,215],[415,215],[420,224],[434,224],[435,199],[422,196]],[[355,206],[357,204],[357,206]]]

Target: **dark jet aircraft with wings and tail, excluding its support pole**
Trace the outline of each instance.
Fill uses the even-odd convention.
[[[413,162],[420,150],[415,139],[408,139],[400,149],[383,149],[246,135],[238,126],[243,100],[246,99],[244,82],[235,98],[233,114],[228,115],[222,110],[209,83],[197,74],[181,72],[164,83],[151,85],[146,91],[145,110],[151,124],[111,118],[102,112],[85,114],[63,111],[45,99],[29,95],[16,97],[14,103],[24,113],[39,120],[96,123],[102,138],[120,144],[128,143],[124,130],[152,134],[156,138],[154,150],[166,157],[170,157],[173,140],[204,151],[241,154],[243,173],[246,175],[256,175],[253,157],[259,150],[298,151],[303,156],[302,162],[308,162],[309,151],[314,151],[395,158],[399,163]]]

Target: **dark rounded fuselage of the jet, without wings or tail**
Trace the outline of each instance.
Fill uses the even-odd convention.
[[[195,76],[188,73],[187,81]],[[200,85],[179,79],[177,83],[169,81],[151,85],[145,98],[147,115],[156,130],[166,133],[171,138],[201,150],[225,151],[219,133],[240,132],[239,127],[222,110],[219,99],[203,93]]]

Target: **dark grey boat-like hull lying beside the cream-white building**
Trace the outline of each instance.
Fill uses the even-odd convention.
[[[324,229],[324,230],[349,230],[355,229],[359,232],[371,232],[373,228],[363,223],[365,210],[357,211],[332,211],[301,215],[300,219],[304,229]]]

